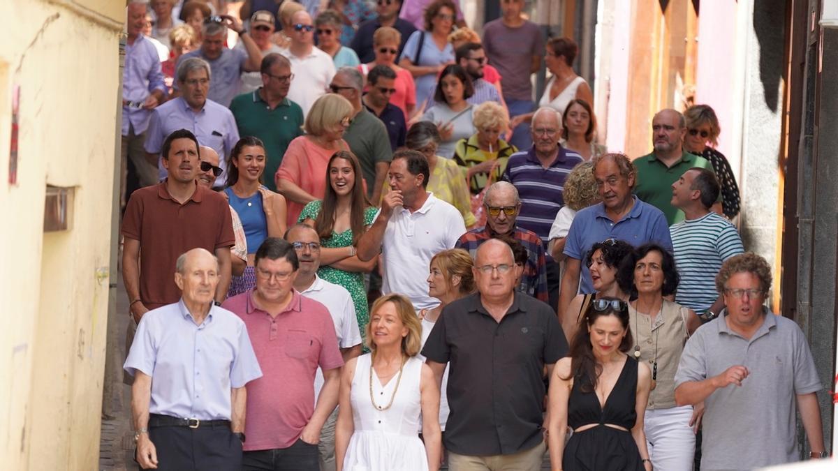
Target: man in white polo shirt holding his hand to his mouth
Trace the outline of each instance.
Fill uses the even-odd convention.
[[[381,292],[404,294],[416,310],[438,303],[427,295],[425,282],[432,256],[452,249],[466,232],[460,212],[426,191],[430,173],[422,153],[394,153],[387,172],[391,191],[370,230],[358,241],[361,261],[384,254]]]

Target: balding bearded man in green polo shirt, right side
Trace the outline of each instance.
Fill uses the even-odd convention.
[[[637,168],[634,194],[663,211],[669,225],[684,220],[684,211],[670,203],[672,184],[690,168],[713,170],[706,158],[684,150],[685,135],[684,115],[672,109],[658,111],[652,119],[654,150],[649,155],[634,160],[634,166]]]

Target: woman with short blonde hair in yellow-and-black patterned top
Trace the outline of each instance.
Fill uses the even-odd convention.
[[[509,127],[506,111],[494,101],[485,101],[474,109],[472,137],[460,139],[454,146],[454,162],[465,171],[472,194],[479,194],[490,183],[500,179],[515,146],[500,138]]]

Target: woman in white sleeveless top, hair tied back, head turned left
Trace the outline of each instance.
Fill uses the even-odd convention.
[[[552,74],[544,87],[544,95],[538,106],[550,106],[564,114],[567,104],[578,98],[593,105],[593,93],[587,81],[573,71],[573,60],[579,52],[579,47],[568,38],[553,38],[547,41],[544,57],[547,70]],[[512,118],[510,127],[515,129],[521,122],[532,122],[535,111]]]

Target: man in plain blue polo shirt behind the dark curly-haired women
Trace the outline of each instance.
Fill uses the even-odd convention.
[[[607,153],[594,158],[593,177],[603,202],[579,210],[567,233],[564,250],[567,257],[559,296],[560,321],[577,290],[593,292],[591,273],[587,267],[582,267],[582,259],[595,242],[609,238],[632,246],[654,242],[672,251],[670,228],[664,213],[632,195],[637,169],[628,157]]]

